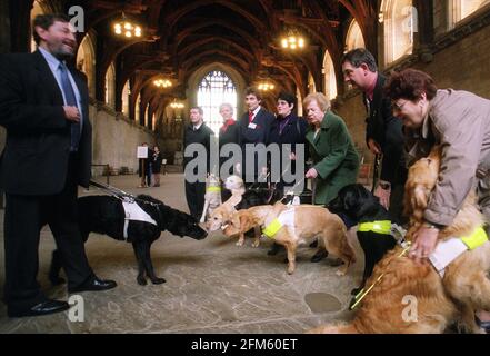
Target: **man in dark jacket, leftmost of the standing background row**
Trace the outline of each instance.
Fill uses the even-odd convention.
[[[211,136],[214,136],[214,132],[206,126],[203,122],[203,111],[200,107],[193,107],[190,109],[190,125],[186,128],[183,134],[183,150],[186,151],[187,147],[192,144],[201,145],[201,148],[204,150],[202,154],[206,154],[206,171],[209,172],[211,168],[209,167],[209,154],[211,146]],[[197,159],[198,154],[194,152],[193,156],[183,157],[183,167],[187,170],[187,166],[194,159]],[[201,156],[202,157],[202,156]],[[201,162],[202,164],[202,162]],[[193,175],[198,175],[198,169],[194,167]],[[190,172],[189,172],[190,174]],[[187,205],[189,206],[190,215],[192,215],[198,220],[201,218],[202,209],[204,208],[204,195],[206,195],[206,177],[200,177],[196,181],[186,174],[186,199]]]

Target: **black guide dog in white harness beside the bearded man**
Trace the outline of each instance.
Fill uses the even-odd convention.
[[[154,275],[150,256],[151,244],[164,230],[180,237],[189,236],[197,240],[206,238],[208,234],[198,225],[199,221],[196,218],[173,209],[153,197],[139,195],[136,198],[136,204],[158,224],[156,226],[151,222],[134,220],[130,220],[128,224],[126,240],[132,244],[138,261],[137,281],[139,285],[146,285],[146,274],[153,284],[166,283],[163,278],[158,278]],[[81,197],[78,199],[78,215],[83,241],[87,241],[90,233],[104,234],[117,240],[124,240],[126,212],[120,199],[112,196]],[[53,285],[64,283],[59,277],[61,267],[61,256],[58,250],[54,250],[49,270],[49,279]]]

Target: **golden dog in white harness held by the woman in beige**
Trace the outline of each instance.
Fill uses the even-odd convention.
[[[423,222],[430,192],[436,186],[441,161],[441,148],[436,146],[427,158],[410,168],[406,185],[406,210],[410,216],[410,228],[406,238],[411,240],[413,233]],[[484,224],[484,218],[476,205],[471,191],[458,211],[453,222],[441,229],[439,240],[471,235]],[[442,283],[447,293],[457,300],[462,313],[462,325],[470,332],[479,333],[474,320],[476,309],[490,310],[490,243],[467,250],[454,259],[444,271]]]

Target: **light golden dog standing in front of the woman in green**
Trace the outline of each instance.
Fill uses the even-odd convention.
[[[277,244],[283,245],[287,249],[288,273],[292,274],[296,269],[298,246],[321,238],[327,250],[340,257],[344,263],[344,266],[338,273],[344,275],[349,266],[356,261],[356,255],[348,244],[346,226],[342,220],[324,207],[311,205],[287,207],[281,202],[273,206],[252,207],[236,212],[223,233],[228,236],[240,234],[242,239],[243,233],[252,226],[267,227],[281,214],[290,214],[290,209],[293,209],[293,218],[290,222],[282,225],[272,237]],[[259,238],[256,235],[254,246],[259,246]],[[239,240],[239,244],[242,243]]]

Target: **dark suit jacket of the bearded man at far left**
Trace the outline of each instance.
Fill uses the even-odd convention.
[[[83,127],[78,151],[78,184],[88,187],[92,128],[86,76],[70,68],[81,96]],[[70,121],[63,96],[41,52],[0,56],[0,125],[7,129],[0,158],[0,186],[11,195],[53,195],[66,182]]]

